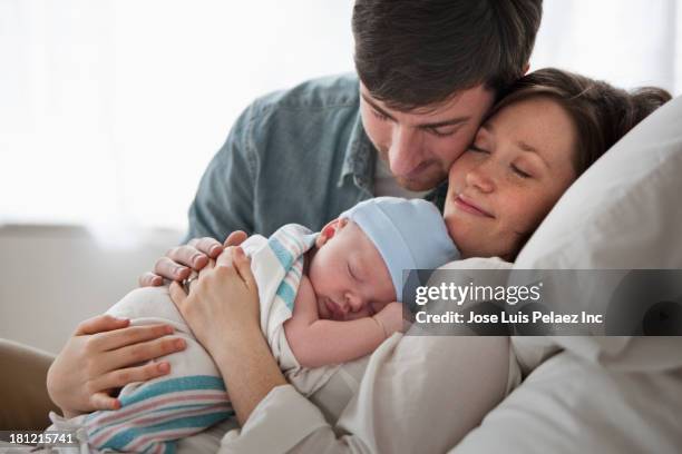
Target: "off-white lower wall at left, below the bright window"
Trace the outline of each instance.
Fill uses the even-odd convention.
[[[57,353],[88,317],[137,285],[178,231],[138,231],[108,248],[80,227],[0,227],[0,337]]]

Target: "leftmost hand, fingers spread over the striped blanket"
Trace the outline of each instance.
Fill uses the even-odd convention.
[[[167,362],[148,363],[185,348],[185,340],[168,337],[166,325],[128,326],[129,320],[100,315],[82,322],[48,371],[50,398],[65,417],[96,409],[116,409],[111,396],[128,383],[166,375]]]

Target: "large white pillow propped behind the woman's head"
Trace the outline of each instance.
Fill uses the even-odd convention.
[[[566,191],[514,268],[682,268],[682,97],[644,119]],[[576,305],[585,295],[574,295]],[[682,337],[515,337],[526,372],[559,349],[632,371],[682,366]]]

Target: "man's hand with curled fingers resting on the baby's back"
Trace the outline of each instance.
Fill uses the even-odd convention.
[[[230,234],[224,245],[216,239],[204,237],[194,238],[186,245],[169,249],[165,257],[156,260],[154,273],[145,273],[139,277],[140,287],[160,286],[164,278],[169,280],[183,280],[189,277],[192,272],[203,269],[212,258],[216,258],[225,246],[241,245],[246,234],[236,230]]]

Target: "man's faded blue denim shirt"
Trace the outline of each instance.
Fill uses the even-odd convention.
[[[311,80],[255,100],[215,155],[189,208],[187,238],[284,224],[319,231],[372,197],[376,150],[355,76]]]

